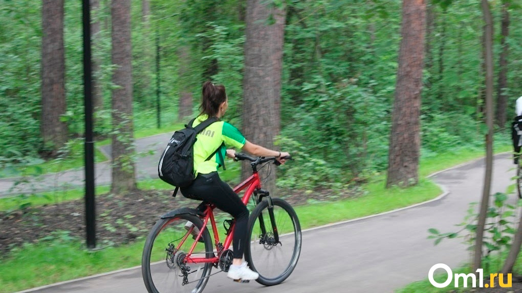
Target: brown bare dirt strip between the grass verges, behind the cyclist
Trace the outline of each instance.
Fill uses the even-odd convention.
[[[333,200],[333,193],[329,190],[306,196],[295,190],[293,193],[282,197],[292,206]],[[349,191],[338,195],[335,200],[355,195],[354,191]],[[97,196],[97,243],[101,246],[132,243],[137,237],[146,236],[161,214],[181,207],[196,207],[198,203],[183,197],[181,193],[173,198],[165,190],[138,191],[126,196]],[[52,240],[64,234],[85,241],[83,200],[32,207],[23,211],[0,212],[0,258],[23,243]]]

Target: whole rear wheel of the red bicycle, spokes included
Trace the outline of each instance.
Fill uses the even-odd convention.
[[[152,227],[141,258],[141,273],[149,293],[200,293],[207,284],[211,263],[184,263],[194,239],[185,228],[187,221],[201,229],[203,222],[192,214],[176,214],[160,219]],[[187,236],[187,237],[185,237]],[[212,258],[212,242],[208,229],[202,234],[192,257]]]

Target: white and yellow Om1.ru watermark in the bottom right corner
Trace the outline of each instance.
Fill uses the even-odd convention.
[[[448,278],[444,283],[437,283],[435,279],[433,279],[433,273],[435,273],[436,269],[443,269],[447,272]],[[484,270],[477,269],[477,273],[479,273],[479,288],[489,288],[495,287],[495,279],[499,279],[499,286],[503,288],[511,287],[511,274],[507,274],[507,283],[504,282],[504,274],[490,274],[490,283],[484,284]],[[470,274],[455,274],[455,288],[459,287],[459,280],[462,279],[462,287],[468,287],[468,278],[471,278],[471,287],[477,287],[477,276],[473,273]],[[437,263],[431,267],[430,272],[428,273],[428,279],[430,279],[430,283],[437,288],[445,288],[452,283],[453,280],[453,272],[449,266],[444,263]]]

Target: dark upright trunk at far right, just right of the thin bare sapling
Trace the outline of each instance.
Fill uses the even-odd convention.
[[[502,52],[500,53],[500,71],[499,71],[499,88],[497,88],[497,100],[496,100],[496,122],[501,127],[504,128],[506,125],[506,104],[507,104],[507,96],[505,94],[505,90],[507,88],[507,54],[509,50],[509,44],[507,44],[506,39],[509,35],[509,11],[507,8],[509,7],[509,2],[504,1],[502,5],[502,25],[501,32],[502,38],[500,40],[500,46],[502,48]]]

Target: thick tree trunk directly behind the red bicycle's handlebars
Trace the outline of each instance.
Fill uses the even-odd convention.
[[[267,24],[270,15],[274,23]],[[286,14],[263,0],[248,0],[246,4],[245,74],[243,81],[243,134],[249,141],[274,148],[279,134],[281,103],[281,66],[283,33]],[[265,168],[263,170],[267,170]],[[275,190],[276,168],[265,184]],[[249,164],[243,164],[243,177],[252,174]],[[260,172],[263,177],[266,173]]]

